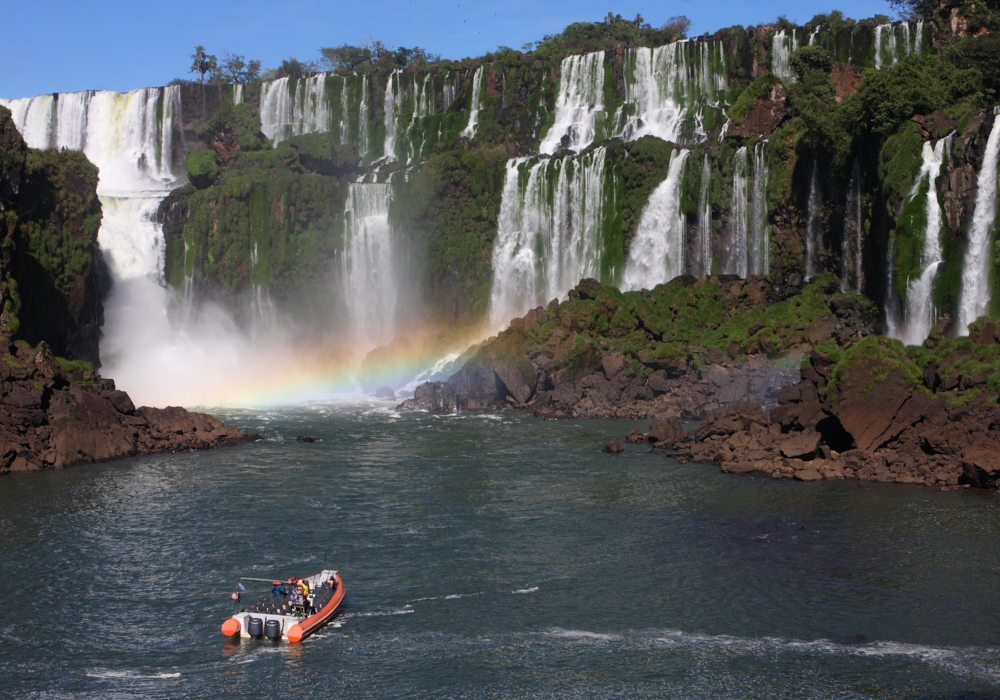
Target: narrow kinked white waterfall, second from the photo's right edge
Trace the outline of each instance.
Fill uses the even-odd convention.
[[[931,147],[924,143],[923,164],[920,173],[913,184],[910,197],[920,193],[922,183],[927,183],[927,228],[924,231],[924,248],[920,256],[922,272],[917,279],[911,279],[906,286],[906,323],[903,340],[907,345],[919,345],[927,339],[931,328],[937,322],[934,309],[934,280],[937,278],[938,267],[944,262],[941,259],[941,203],[938,201],[937,178],[941,174],[941,166],[951,148],[952,136],[949,135]]]

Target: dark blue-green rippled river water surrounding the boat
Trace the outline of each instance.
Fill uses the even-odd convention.
[[[626,422],[222,417],[266,439],[0,480],[0,693],[1000,697],[990,494],[600,453]],[[324,561],[333,625],[221,637],[237,575]]]

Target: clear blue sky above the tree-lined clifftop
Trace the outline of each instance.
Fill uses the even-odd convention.
[[[262,61],[313,60],[321,46],[375,37],[422,46],[446,58],[478,56],[499,45],[520,48],[570,22],[613,11],[641,13],[654,26],[674,15],[692,34],[785,15],[805,22],[839,9],[861,19],[891,14],[885,0],[28,0],[3,11],[0,97],[87,89],[131,90],[192,77],[196,44]]]

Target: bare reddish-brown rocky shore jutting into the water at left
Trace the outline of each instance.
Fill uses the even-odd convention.
[[[78,363],[61,363],[45,343],[32,348],[18,342],[9,349],[0,358],[0,474],[260,439],[205,413],[136,408],[114,381]]]

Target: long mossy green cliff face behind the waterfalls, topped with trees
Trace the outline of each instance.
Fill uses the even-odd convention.
[[[592,61],[600,88],[591,99],[601,107],[592,144],[576,154],[563,150],[572,145],[564,138],[544,168],[551,196],[563,186],[559,172],[579,167],[588,151],[604,152],[600,201],[589,192],[590,201],[572,204],[600,209],[589,274],[623,283],[650,196],[686,153],[677,194],[684,272],[740,272],[729,249],[742,226],[742,235],[759,239],[746,272],[801,284],[833,271],[883,314],[905,308],[907,281],[921,271],[924,236],[914,212],[926,193],[910,190],[922,146],[955,131],[945,177],[935,183],[948,200],[948,243],[933,297],[951,312],[947,322],[992,125],[983,109],[992,54],[975,43],[982,37],[952,32],[952,14],[949,5],[940,17],[893,25],[831,13],[802,27],[734,27],[669,50],[661,30],[574,25],[531,52],[402,69],[390,61],[357,75],[241,86],[238,96],[232,86],[185,86],[188,147],[212,154],[189,168],[211,176],[164,204],[167,278],[238,316],[251,313],[264,289],[289,317],[318,322],[315,290],[324,290],[328,308],[343,306],[336,290],[338,271],[350,266],[347,190],[368,173],[368,182],[392,187],[394,241],[415,280],[407,296],[441,323],[483,320],[510,159],[526,159],[518,166],[526,180],[549,157],[539,151],[558,128],[566,61],[603,51]],[[977,31],[990,17],[977,20]],[[658,46],[660,53],[642,54]],[[639,138],[660,118],[636,112],[646,60],[680,86],[669,88],[671,104],[687,111],[671,140],[660,132]],[[239,129],[260,137],[239,145]]]

